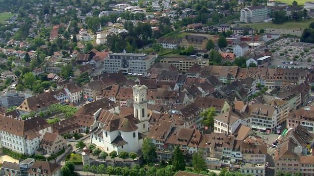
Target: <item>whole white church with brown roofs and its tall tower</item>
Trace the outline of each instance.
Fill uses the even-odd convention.
[[[103,109],[94,113],[90,140],[107,153],[137,152],[142,149],[143,133],[149,131],[147,87],[135,85],[132,89],[133,116],[122,117]]]

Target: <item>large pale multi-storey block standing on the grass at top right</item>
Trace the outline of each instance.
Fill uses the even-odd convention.
[[[263,5],[245,7],[241,10],[240,22],[263,22],[267,20],[267,13],[267,7]]]

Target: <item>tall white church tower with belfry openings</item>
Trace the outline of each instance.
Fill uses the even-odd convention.
[[[136,85],[133,87],[133,110],[134,117],[140,123],[136,124],[139,132],[148,132],[148,110],[147,110],[147,87],[145,85]]]

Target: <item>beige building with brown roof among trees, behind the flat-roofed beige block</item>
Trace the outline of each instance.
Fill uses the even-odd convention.
[[[197,50],[206,50],[208,39],[204,36],[186,35],[182,38],[180,45],[184,48],[193,46]]]

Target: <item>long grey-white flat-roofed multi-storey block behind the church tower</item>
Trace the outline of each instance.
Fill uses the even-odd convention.
[[[154,64],[157,55],[135,53],[113,53],[105,60],[105,72],[137,73],[146,75],[146,71]]]

